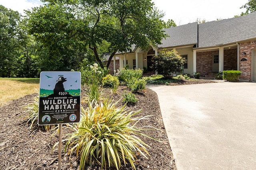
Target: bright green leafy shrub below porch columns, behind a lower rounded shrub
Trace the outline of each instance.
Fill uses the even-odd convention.
[[[143,70],[133,70],[133,69],[122,69],[120,72],[120,81],[129,82],[132,78],[137,80],[142,78]]]

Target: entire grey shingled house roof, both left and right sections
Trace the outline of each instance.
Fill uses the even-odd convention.
[[[220,21],[197,22],[164,29],[169,37],[159,48],[195,45],[213,47],[256,38],[256,12]]]

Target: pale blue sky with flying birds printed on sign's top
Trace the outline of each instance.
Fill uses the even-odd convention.
[[[77,90],[81,88],[80,72],[41,72],[40,89],[53,90],[60,76],[66,78],[63,83],[65,90]]]

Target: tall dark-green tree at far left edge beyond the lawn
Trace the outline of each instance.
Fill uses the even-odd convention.
[[[20,14],[0,5],[0,77],[16,75]]]

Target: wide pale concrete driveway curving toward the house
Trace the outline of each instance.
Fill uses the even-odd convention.
[[[256,83],[148,84],[178,170],[256,169]]]

